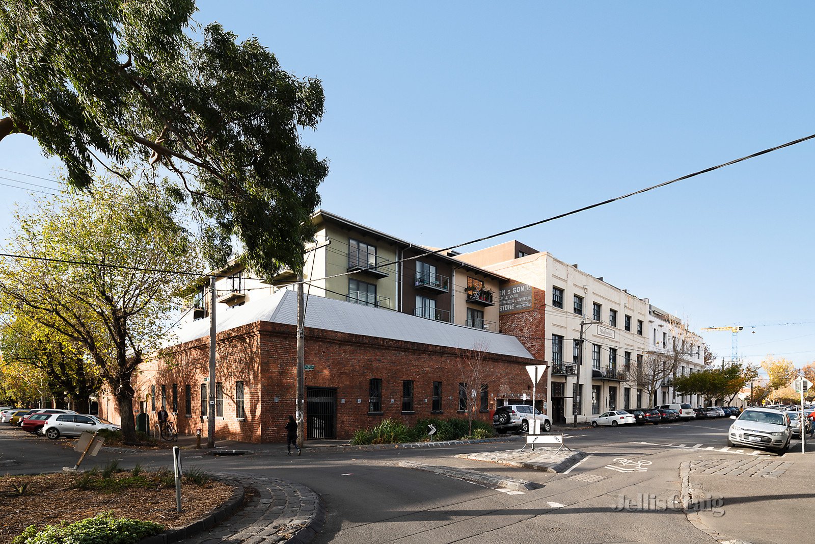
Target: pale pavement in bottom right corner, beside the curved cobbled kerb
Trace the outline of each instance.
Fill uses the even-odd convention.
[[[688,519],[719,542],[812,542],[815,451],[683,462]]]

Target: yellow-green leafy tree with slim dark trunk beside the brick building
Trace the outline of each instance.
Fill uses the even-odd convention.
[[[116,397],[126,441],[135,440],[131,378],[167,338],[167,315],[190,276],[195,245],[156,182],[152,196],[95,180],[116,200],[64,195],[15,214],[0,262],[0,296],[15,316],[80,346]]]

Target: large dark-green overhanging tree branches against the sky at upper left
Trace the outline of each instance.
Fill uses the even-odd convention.
[[[3,2],[0,140],[33,137],[75,188],[102,170],[131,184],[145,169],[172,175],[212,266],[236,237],[258,272],[300,269],[328,174],[301,135],[323,116],[322,83],[281,69],[255,38],[201,29],[195,11],[194,0]]]

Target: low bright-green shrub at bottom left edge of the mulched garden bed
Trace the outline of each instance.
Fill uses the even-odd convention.
[[[152,521],[114,518],[105,512],[73,524],[48,525],[42,531],[29,525],[11,544],[133,544],[163,530],[164,526]]]

